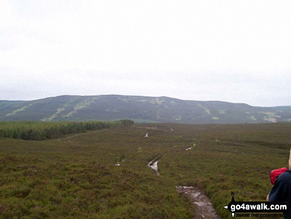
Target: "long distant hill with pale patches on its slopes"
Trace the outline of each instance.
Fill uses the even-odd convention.
[[[243,103],[170,97],[57,96],[32,101],[0,101],[0,120],[88,121],[132,119],[156,123],[291,122],[291,106],[253,107]]]

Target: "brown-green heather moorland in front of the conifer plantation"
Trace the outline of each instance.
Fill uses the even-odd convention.
[[[287,123],[136,124],[59,141],[2,138],[0,218],[201,217],[176,191],[182,185],[204,191],[231,219],[231,191],[236,201],[265,200],[269,171],[287,166],[290,133]],[[147,166],[153,159],[159,176]]]

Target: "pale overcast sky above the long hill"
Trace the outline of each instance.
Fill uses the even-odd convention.
[[[0,100],[291,105],[290,0],[0,0]]]

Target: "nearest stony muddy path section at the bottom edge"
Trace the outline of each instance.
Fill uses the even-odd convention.
[[[197,219],[221,219],[204,191],[192,186],[176,186],[176,189],[195,206]]]

